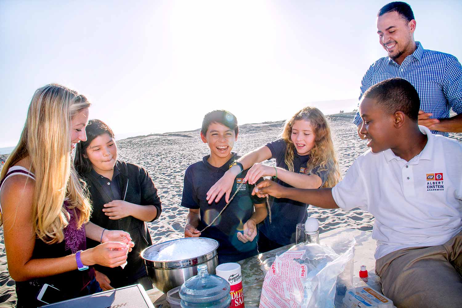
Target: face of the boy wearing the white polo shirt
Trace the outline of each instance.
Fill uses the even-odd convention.
[[[359,133],[366,136],[372,152],[388,150],[394,145],[394,115],[381,109],[375,100],[364,97],[359,103],[359,115],[363,124]]]

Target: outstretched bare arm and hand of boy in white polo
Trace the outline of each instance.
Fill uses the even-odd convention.
[[[264,197],[265,194],[268,194],[275,198],[288,198],[322,207],[323,209],[336,209],[339,207],[335,203],[334,197],[332,197],[332,188],[289,188],[280,186],[274,181],[265,180],[255,185],[252,195],[255,195],[255,193],[259,197]]]

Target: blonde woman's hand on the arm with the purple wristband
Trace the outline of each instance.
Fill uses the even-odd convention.
[[[108,267],[121,266],[127,261],[129,245],[121,242],[105,242],[80,254],[83,265],[99,264]]]

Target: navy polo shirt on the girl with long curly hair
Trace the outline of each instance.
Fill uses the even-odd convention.
[[[271,151],[271,158],[276,158],[276,166],[288,170],[287,164],[284,161],[286,142],[283,139],[279,139],[268,143],[266,146]],[[301,156],[295,151],[293,159],[294,172],[308,174],[310,170],[306,170],[306,163],[309,159],[310,155]],[[318,175],[322,183],[325,182],[325,171],[318,172],[317,169],[314,169],[311,170],[311,173]],[[284,187],[292,187],[280,179],[277,179],[276,183]],[[268,215],[259,225],[260,232],[271,241],[283,246],[294,243],[297,223],[304,223],[307,218],[307,204],[291,199],[274,197],[270,197],[269,204],[271,206],[271,223],[269,222]]]

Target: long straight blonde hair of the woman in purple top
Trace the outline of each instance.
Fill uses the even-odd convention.
[[[50,84],[37,89],[19,143],[0,175],[1,180],[10,167],[25,157],[30,158],[30,171],[35,175],[33,228],[36,236],[49,244],[64,239],[63,228],[69,223],[69,214],[63,206],[65,198],[74,212],[77,228],[90,218],[91,205],[71,164],[70,153],[71,120],[88,107],[90,103],[85,96],[63,85]]]

